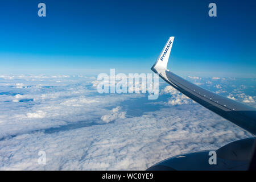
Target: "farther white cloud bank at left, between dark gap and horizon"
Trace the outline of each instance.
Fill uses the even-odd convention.
[[[24,77],[20,81],[30,78]],[[28,81],[26,85],[30,86],[22,91],[4,86],[11,90],[0,94],[0,113],[5,115],[0,119],[0,127],[5,128],[0,131],[0,139],[68,123],[96,120],[100,123],[101,116],[109,114],[106,106],[116,107],[123,101],[145,97],[143,94],[99,95],[97,90],[90,87],[93,78],[65,78],[58,83],[58,76],[44,77],[44,81],[41,80],[42,76],[33,77],[35,81]]]

